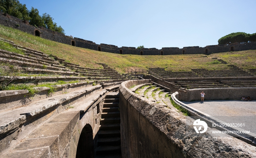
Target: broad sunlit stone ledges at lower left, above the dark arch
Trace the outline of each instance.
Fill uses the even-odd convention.
[[[56,85],[60,88],[52,95],[47,94],[48,88],[41,87],[42,92],[29,98],[24,97],[28,96],[27,90],[0,91],[0,101],[5,100],[0,103],[0,157],[14,158],[25,153],[27,157],[44,157],[49,152],[54,154],[51,157],[63,157],[79,115],[90,107],[98,109],[106,93],[120,84],[105,84],[106,89],[85,82]],[[22,104],[24,99],[28,102]],[[100,111],[94,119],[98,126]],[[54,152],[45,151],[49,147]]]

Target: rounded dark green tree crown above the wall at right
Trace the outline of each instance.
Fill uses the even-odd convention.
[[[223,36],[218,40],[219,45],[230,44],[230,43],[244,43],[244,42],[255,42],[256,34],[246,34],[245,32],[235,32]]]

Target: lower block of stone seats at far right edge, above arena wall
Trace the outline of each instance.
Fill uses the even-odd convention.
[[[231,87],[255,87],[256,80],[222,80],[223,84]]]

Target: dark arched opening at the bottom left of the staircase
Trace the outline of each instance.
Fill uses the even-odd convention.
[[[94,157],[93,128],[86,124],[80,134],[76,149],[76,158]]]

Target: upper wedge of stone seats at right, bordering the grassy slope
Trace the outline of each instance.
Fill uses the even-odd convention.
[[[203,77],[250,77],[253,74],[240,69],[240,68],[230,68],[227,70],[207,70],[207,69],[192,69],[197,74]]]

